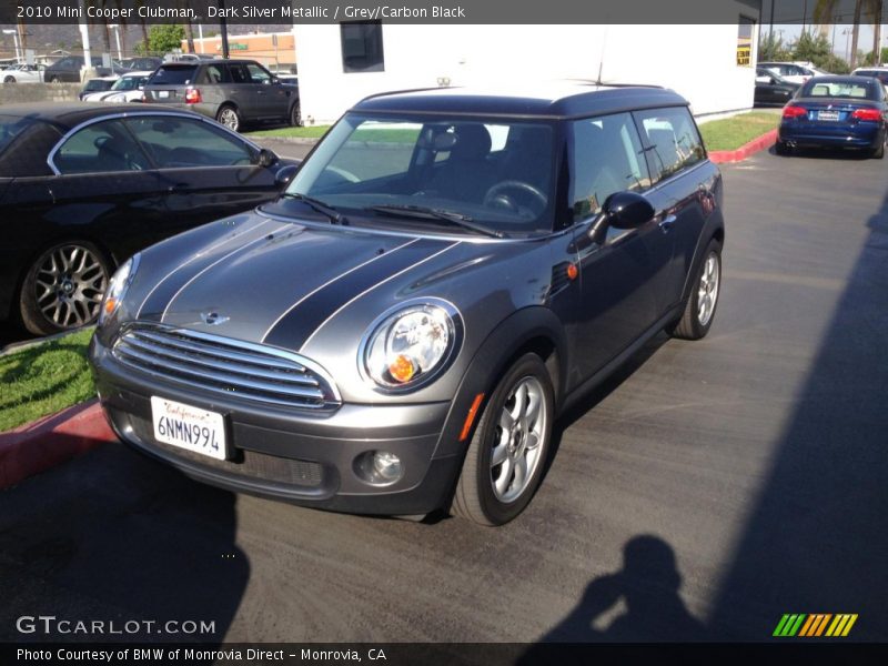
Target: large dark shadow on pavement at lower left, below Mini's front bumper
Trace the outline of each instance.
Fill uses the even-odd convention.
[[[38,478],[0,493],[0,642],[224,638],[250,577],[234,495],[118,443]],[[20,633],[21,616],[70,624]]]

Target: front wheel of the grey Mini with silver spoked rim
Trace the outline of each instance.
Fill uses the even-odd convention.
[[[521,514],[543,477],[554,417],[548,371],[539,356],[525,354],[491,394],[468,445],[451,513],[488,526]]]

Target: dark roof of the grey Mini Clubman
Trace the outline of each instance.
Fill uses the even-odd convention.
[[[679,94],[655,85],[588,81],[522,83],[518,89],[431,88],[371,95],[360,112],[461,113],[531,118],[582,118],[655,107],[686,107]]]

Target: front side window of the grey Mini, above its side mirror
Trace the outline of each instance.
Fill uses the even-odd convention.
[[[629,113],[572,123],[571,205],[574,220],[602,210],[614,192],[650,185],[638,132]]]

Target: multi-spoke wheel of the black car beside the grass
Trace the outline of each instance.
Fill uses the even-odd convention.
[[[94,323],[110,278],[110,262],[90,242],[49,248],[22,282],[19,310],[24,327],[37,335],[52,335]]]

